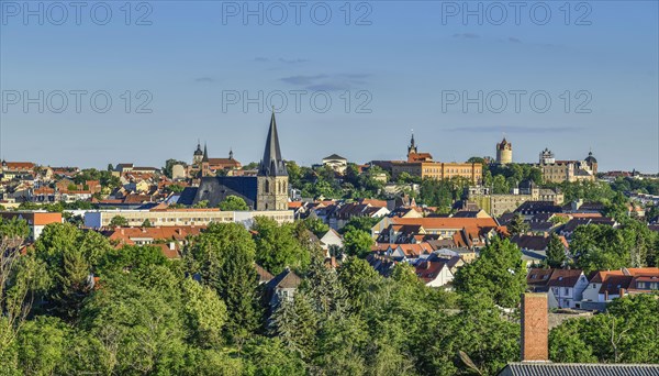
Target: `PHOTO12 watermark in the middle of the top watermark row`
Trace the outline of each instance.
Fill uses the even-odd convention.
[[[223,1],[223,25],[372,24],[371,2],[360,1]]]

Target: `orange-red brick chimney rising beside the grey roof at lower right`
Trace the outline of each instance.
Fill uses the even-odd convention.
[[[522,362],[549,362],[547,294],[522,295]]]

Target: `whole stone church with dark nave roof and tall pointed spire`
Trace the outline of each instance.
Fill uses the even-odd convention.
[[[209,208],[215,208],[227,196],[233,195],[244,199],[252,210],[287,210],[288,189],[288,172],[281,157],[277,122],[272,112],[264,156],[256,176],[203,177],[199,187],[186,188],[178,202],[192,206],[209,201]]]

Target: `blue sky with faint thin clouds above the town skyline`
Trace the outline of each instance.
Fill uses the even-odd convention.
[[[248,163],[263,153],[272,104],[283,156],[302,164],[332,153],[402,158],[414,129],[420,150],[443,162],[494,155],[505,133],[516,162],[592,148],[603,169],[659,170],[657,1],[570,2],[569,20],[562,1],[527,2],[518,19],[514,2],[350,2],[349,16],[344,1],[309,2],[298,20],[295,2],[249,2],[263,24],[244,19],[245,2],[132,2],[130,16],[124,1],[85,2],[79,20],[69,2],[66,19],[51,2],[0,3],[7,159],[161,166],[190,161],[201,139],[212,157],[233,148]],[[43,25],[24,19],[30,10]],[[463,19],[469,10],[482,21]],[[80,113],[71,90],[87,92]]]

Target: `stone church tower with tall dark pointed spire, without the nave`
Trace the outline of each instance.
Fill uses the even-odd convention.
[[[258,166],[256,210],[288,209],[288,172],[281,158],[275,111],[266,141],[264,158]]]

